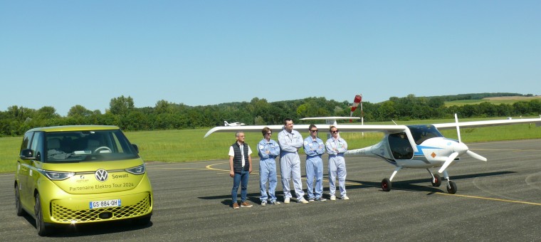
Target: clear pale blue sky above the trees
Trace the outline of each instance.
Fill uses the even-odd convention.
[[[541,95],[541,1],[0,0],[0,110]]]

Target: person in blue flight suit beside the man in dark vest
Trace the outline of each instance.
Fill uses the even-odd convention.
[[[276,161],[275,158],[280,155],[280,146],[274,140],[271,140],[273,130],[268,127],[264,127],[261,130],[263,134],[263,140],[258,144],[259,155],[259,190],[261,191],[261,206],[267,205],[267,201],[270,204],[279,205],[280,202],[276,201]],[[268,181],[268,195],[267,195],[267,181]]]

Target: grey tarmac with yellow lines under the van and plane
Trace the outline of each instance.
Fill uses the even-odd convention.
[[[424,169],[403,169],[393,190],[379,187],[394,167],[347,157],[350,200],[259,206],[258,159],[248,184],[251,208],[231,208],[227,160],[149,162],[154,215],[148,226],[115,222],[36,233],[30,216],[15,214],[14,174],[0,174],[2,241],[540,241],[541,140],[468,144],[488,162],[464,156],[448,168],[458,186],[430,184]],[[224,154],[227,147],[224,147]],[[304,167],[301,155],[301,167]],[[327,157],[324,157],[325,170]],[[278,166],[279,169],[279,166]],[[437,169],[432,169],[436,172]],[[302,172],[305,174],[305,172]],[[279,173],[278,173],[279,174]],[[280,177],[278,177],[280,180]],[[325,197],[328,196],[325,172]],[[291,185],[293,188],[293,184]],[[306,188],[303,178],[303,188]],[[240,194],[240,191],[239,191]],[[283,201],[278,181],[277,195]]]

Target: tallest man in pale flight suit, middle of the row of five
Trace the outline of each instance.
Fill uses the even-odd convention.
[[[280,144],[280,174],[282,175],[283,202],[289,204],[291,190],[290,180],[293,179],[293,187],[297,202],[308,204],[304,198],[303,181],[300,180],[300,157],[298,150],[303,147],[303,136],[297,130],[293,130],[293,120],[286,118],[283,122],[284,129],[278,133]]]

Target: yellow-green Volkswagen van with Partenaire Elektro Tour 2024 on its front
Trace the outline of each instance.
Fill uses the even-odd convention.
[[[17,215],[51,226],[152,216],[152,186],[131,144],[115,126],[73,125],[28,130],[15,174]]]

